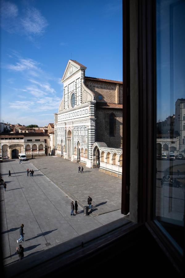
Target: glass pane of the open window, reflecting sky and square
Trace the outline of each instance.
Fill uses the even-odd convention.
[[[185,1],[157,1],[155,218],[182,252],[185,191]]]

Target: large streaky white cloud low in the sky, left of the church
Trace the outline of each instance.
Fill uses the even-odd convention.
[[[14,64],[4,65],[4,67],[17,75],[21,75],[23,84],[26,85],[21,89],[15,88],[15,85],[14,88],[8,86],[10,89],[19,92],[19,99],[14,103],[9,103],[10,110],[11,108],[15,110],[24,109],[24,111],[31,113],[46,111],[46,116],[47,112],[49,112],[48,116],[53,115],[50,111],[57,111],[61,102],[61,97],[57,97],[57,91],[53,88],[53,85],[58,86],[58,83],[63,85],[60,78],[54,78],[44,71],[41,68],[43,65],[38,61],[21,57],[19,53],[13,53],[12,55],[17,61]],[[51,83],[48,80],[51,80]],[[21,91],[24,93],[21,94]]]

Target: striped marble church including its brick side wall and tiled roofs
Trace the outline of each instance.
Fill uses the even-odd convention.
[[[122,174],[122,82],[85,76],[69,60],[55,113],[55,154],[89,168]]]

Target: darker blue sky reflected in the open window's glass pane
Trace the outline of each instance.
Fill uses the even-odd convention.
[[[185,98],[185,1],[157,1],[157,120]]]

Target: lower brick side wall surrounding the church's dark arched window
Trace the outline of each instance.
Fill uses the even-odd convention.
[[[109,135],[109,116],[114,113],[116,116],[115,137]],[[122,148],[123,118],[122,109],[96,108],[96,141],[105,142],[110,148]]]

